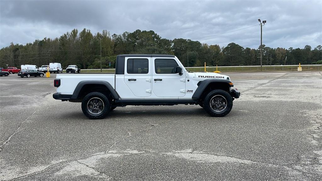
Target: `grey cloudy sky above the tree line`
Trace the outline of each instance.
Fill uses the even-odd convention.
[[[322,44],[321,2],[0,0],[0,47],[86,28],[111,34],[153,30],[167,39],[257,48],[260,18],[267,21],[263,26],[266,46],[314,48]]]

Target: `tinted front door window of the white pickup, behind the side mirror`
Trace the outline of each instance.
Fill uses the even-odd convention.
[[[158,74],[175,74],[175,68],[178,66],[174,59],[156,59],[154,65]]]

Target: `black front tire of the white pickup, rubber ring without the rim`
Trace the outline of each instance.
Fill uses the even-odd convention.
[[[210,101],[215,97],[215,96],[222,96],[223,98],[226,99],[226,108],[216,112],[215,110],[213,110],[213,108],[210,105]],[[220,89],[216,89],[213,90],[211,92],[209,92],[206,97],[204,98],[204,109],[206,110],[206,112],[212,116],[212,117],[224,117],[226,116],[231,110],[232,110],[232,96],[224,91],[224,90],[220,90]]]

